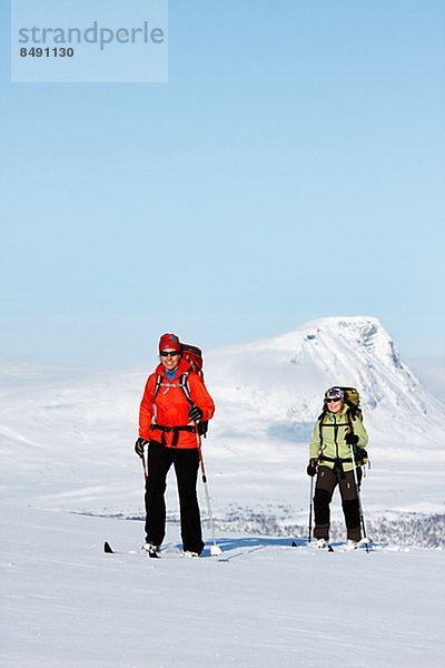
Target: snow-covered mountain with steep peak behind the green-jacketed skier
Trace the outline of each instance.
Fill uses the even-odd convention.
[[[225,411],[234,419],[243,412],[253,425],[267,422],[276,435],[280,430],[285,435],[289,421],[296,429],[313,423],[330,385],[357,387],[366,421],[376,430],[411,438],[444,426],[444,407],[402,361],[375,317],[320,318],[209,356],[211,384]]]

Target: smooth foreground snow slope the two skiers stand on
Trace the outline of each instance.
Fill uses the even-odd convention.
[[[444,665],[443,551],[222,534],[220,559],[188,560],[170,527],[154,560],[138,522],[7,503],[1,524],[4,667]]]

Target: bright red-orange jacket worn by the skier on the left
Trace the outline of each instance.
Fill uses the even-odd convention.
[[[196,372],[190,370],[189,363],[181,358],[172,381],[165,375],[165,367],[158,364],[155,373],[150,374],[144,391],[139,411],[139,435],[147,441],[158,441],[168,448],[197,448],[197,435],[190,431],[161,431],[156,425],[164,428],[194,426],[188,412],[190,402],[184,390],[179,386],[182,374],[187,374],[187,383],[191,401],[202,411],[202,420],[210,420],[215,412],[215,404],[207,392],[204,381]],[[156,382],[161,377],[156,399]],[[175,444],[176,443],[176,444]]]

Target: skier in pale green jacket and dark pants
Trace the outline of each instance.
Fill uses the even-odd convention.
[[[330,501],[339,487],[345,515],[348,547],[356,548],[362,539],[360,509],[356,480],[359,485],[363,461],[360,449],[366,448],[368,435],[358,415],[353,415],[345,403],[340,387],[329,387],[325,393],[322,416],[314,426],[310,440],[308,475],[317,473],[314,494],[317,546],[327,547],[329,540]],[[354,449],[354,459],[352,449]],[[354,472],[354,461],[356,470]]]

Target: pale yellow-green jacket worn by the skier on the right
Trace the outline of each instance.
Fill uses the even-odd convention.
[[[326,412],[323,418],[322,428],[319,420],[317,420],[314,426],[313,436],[310,439],[309,456],[310,459],[318,460],[319,464],[329,466],[329,469],[334,469],[334,461],[324,461],[324,456],[329,460],[349,460],[343,462],[344,471],[352,471],[354,468],[350,461],[350,445],[348,445],[345,440],[346,434],[350,429],[347,415],[348,410],[347,405],[345,405],[339,413]],[[366,448],[368,434],[366,433],[362,420],[359,418],[356,418],[355,420],[352,419],[352,425],[355,435],[358,436],[358,448]]]

